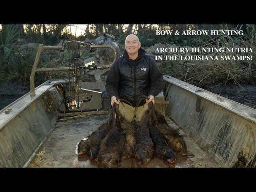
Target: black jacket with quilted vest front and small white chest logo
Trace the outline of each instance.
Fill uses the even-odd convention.
[[[110,97],[119,96],[135,106],[140,96],[156,96],[162,86],[163,74],[154,59],[140,48],[135,60],[130,59],[125,50],[124,55],[114,61],[105,88]]]

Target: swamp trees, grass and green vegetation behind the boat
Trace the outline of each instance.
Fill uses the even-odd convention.
[[[23,28],[24,27],[24,28]],[[255,52],[255,25],[87,25],[84,34],[75,37],[69,25],[2,25],[0,30],[0,84],[6,80],[29,84],[30,73],[39,44],[57,45],[61,40],[93,40],[106,33],[116,37],[120,47],[128,34],[136,34],[142,47],[155,44],[177,47],[248,47]],[[244,36],[156,36],[155,30],[244,30]],[[154,52],[150,52],[153,54]],[[239,55],[239,54],[238,54]],[[164,74],[189,82],[196,86],[213,87],[218,84],[256,83],[255,53],[252,61],[170,61],[159,62]],[[90,54],[83,52],[83,57]],[[43,51],[38,67],[60,67],[67,64],[67,51]],[[47,79],[66,78],[66,72],[36,74],[36,85]]]

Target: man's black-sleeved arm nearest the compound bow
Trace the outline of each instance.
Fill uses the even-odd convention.
[[[110,98],[112,96],[118,96],[118,88],[119,88],[119,67],[118,61],[114,61],[112,64],[108,76],[106,78],[105,89],[110,94]]]

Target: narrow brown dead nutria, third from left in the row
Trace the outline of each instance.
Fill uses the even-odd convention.
[[[120,99],[120,102],[126,101],[123,99]],[[126,101],[128,102],[128,101]],[[129,103],[129,102],[128,102]],[[120,121],[120,128],[122,131],[125,133],[125,152],[126,152],[126,157],[132,158],[134,157],[134,149],[135,149],[135,127],[126,120],[120,113],[118,106],[116,106],[116,112],[117,116]],[[118,119],[117,118],[117,119]]]

